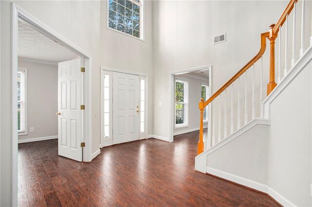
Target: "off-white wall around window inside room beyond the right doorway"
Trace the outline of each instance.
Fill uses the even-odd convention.
[[[187,75],[176,75],[176,78],[187,80],[189,82],[189,97],[188,97],[188,120],[189,125],[187,127],[181,127],[174,129],[174,134],[182,134],[199,129],[199,116],[198,103],[201,99],[201,84],[209,84],[208,77],[206,80],[199,80]],[[203,77],[204,78],[204,77]],[[174,103],[175,104],[175,103]],[[207,122],[204,123],[204,127],[207,127]]]

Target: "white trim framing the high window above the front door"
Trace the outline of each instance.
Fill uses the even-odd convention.
[[[119,30],[113,29],[109,27],[109,0],[107,0],[107,9],[106,9],[106,28],[112,31],[115,31],[117,33],[123,34],[123,35],[127,35],[127,36],[131,36],[135,39],[141,40],[143,42],[145,42],[145,33],[144,33],[144,28],[145,28],[145,24],[144,24],[144,0],[140,0],[140,2],[137,2],[136,0],[130,0],[131,2],[137,4],[138,6],[140,6],[140,22],[139,22],[139,27],[140,27],[140,37],[136,37],[133,35],[129,35],[127,33],[121,32]]]

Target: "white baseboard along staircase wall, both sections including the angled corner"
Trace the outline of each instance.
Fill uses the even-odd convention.
[[[207,167],[206,169],[207,173],[213,174],[215,176],[221,177],[223,179],[226,180],[230,180],[234,183],[238,183],[240,185],[252,188],[254,190],[259,190],[261,192],[267,193],[269,194],[275,201],[277,201],[279,204],[281,204],[282,206],[285,207],[295,207],[295,205],[290,202],[289,200],[287,200],[285,197],[283,197],[281,194],[279,194],[278,192],[276,192],[275,190],[273,190],[271,187],[262,184],[262,183],[258,183],[256,181],[244,178],[244,177],[240,177],[238,175],[235,174],[231,174],[231,173],[227,173],[224,171],[220,171],[217,170],[215,168],[210,168]]]

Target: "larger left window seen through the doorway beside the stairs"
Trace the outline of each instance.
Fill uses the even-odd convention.
[[[176,127],[188,126],[188,82],[176,79]]]

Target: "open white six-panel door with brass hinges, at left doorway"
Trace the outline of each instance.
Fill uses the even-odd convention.
[[[59,63],[59,155],[82,161],[81,59]]]

